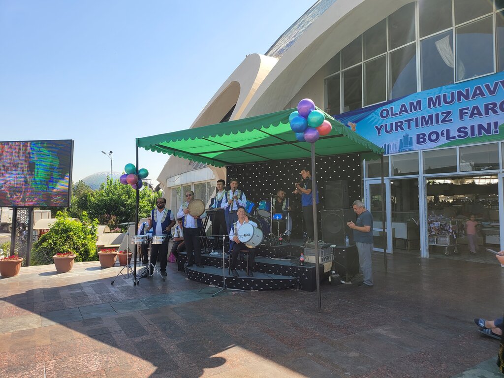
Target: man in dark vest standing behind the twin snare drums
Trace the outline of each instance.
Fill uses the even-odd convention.
[[[168,242],[169,235],[171,234],[171,228],[175,225],[175,216],[171,213],[171,210],[166,209],[166,199],[158,198],[156,201],[156,209],[152,209],[151,216],[147,220],[148,229],[152,228],[152,235],[166,235],[166,239],[162,244],[152,244],[151,245],[151,264],[156,265],[156,261],[159,254],[159,265],[161,276],[165,277],[166,266],[168,265]],[[153,274],[153,268],[150,267],[150,275]]]

